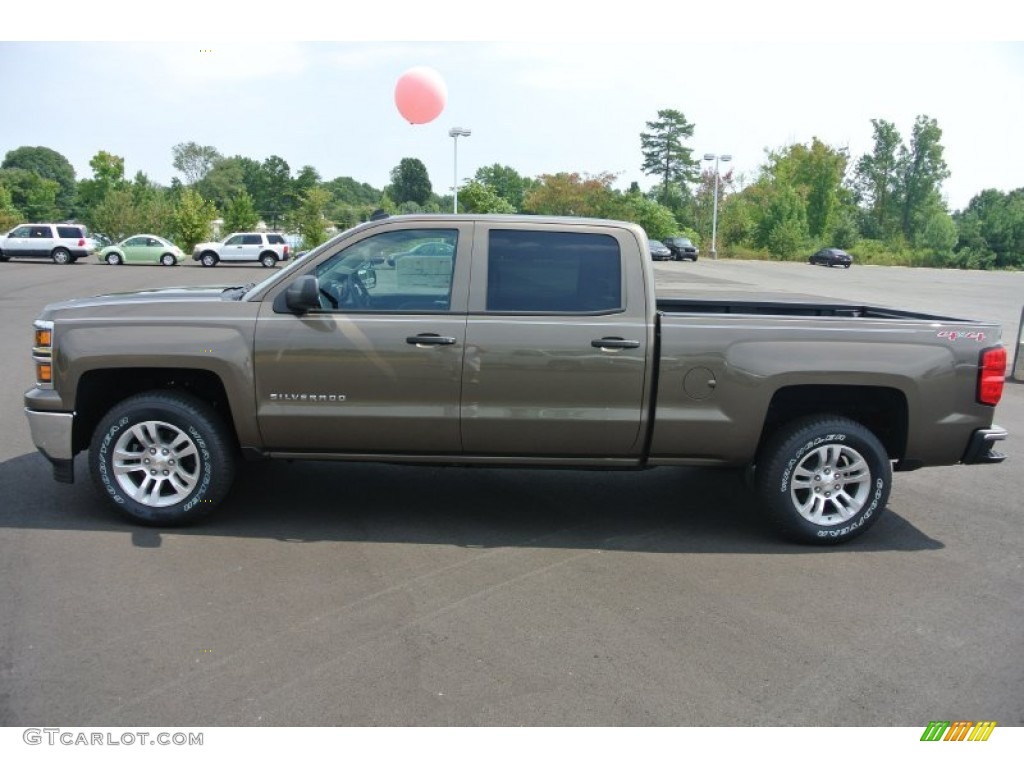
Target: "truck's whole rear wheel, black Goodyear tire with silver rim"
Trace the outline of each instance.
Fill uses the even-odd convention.
[[[815,416],[781,427],[765,444],[757,488],[788,539],[841,544],[882,516],[892,465],[874,434],[850,419]]]

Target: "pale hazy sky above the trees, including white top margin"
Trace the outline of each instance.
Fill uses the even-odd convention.
[[[1024,186],[1024,23],[1008,4],[961,4],[953,17],[939,2],[923,25],[877,0],[835,18],[803,0],[646,2],[228,6],[240,14],[183,0],[157,19],[144,8],[158,6],[130,6],[143,8],[136,17],[99,1],[56,8],[61,24],[43,28],[67,37],[38,40],[12,34],[36,29],[31,8],[5,11],[0,153],[48,146],[87,178],[103,150],[124,158],[129,178],[167,184],[180,176],[172,147],[195,141],[378,188],[417,158],[444,195],[456,175],[449,129],[460,126],[472,131],[459,139],[460,179],[500,164],[648,189],[640,133],[658,110],[682,112],[694,156],[731,155],[723,171],[746,182],[767,151],[816,137],[855,162],[871,150],[872,118],[909,143],[927,115],[942,129],[950,210],[985,188]],[[328,31],[339,39],[308,40]],[[447,89],[424,125],[394,101],[414,67]]]

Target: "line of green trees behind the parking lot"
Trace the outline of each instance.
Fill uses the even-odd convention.
[[[919,116],[908,141],[896,126],[872,120],[873,146],[860,158],[817,138],[766,151],[752,179],[728,169],[716,178],[692,147],[694,125],[678,110],[660,110],[640,134],[641,170],[656,179],[643,190],[615,188],[610,173],[557,172],[530,178],[501,164],[480,168],[460,185],[460,209],[478,213],[588,216],[634,221],[648,236],[675,234],[710,242],[718,186],[718,243],[724,255],[802,259],[819,247],[855,251],[877,263],[970,268],[1024,267],[1024,187],[985,189],[963,211],[950,212],[941,195],[949,171],[942,131]],[[269,227],[295,231],[305,247],[329,229],[389,213],[447,212],[424,164],[403,158],[390,184],[377,189],[351,177],[325,181],[311,166],[293,173],[283,158],[225,157],[195,142],[171,150],[180,176],[169,186],[142,172],[126,179],[124,159],[99,151],[90,178],[76,179],[71,163],[44,146],[7,153],[0,166],[0,228],[23,221],[82,221],[120,239],[153,232],[189,250],[223,230]]]

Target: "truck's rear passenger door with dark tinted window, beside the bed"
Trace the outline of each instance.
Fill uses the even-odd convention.
[[[477,224],[467,453],[639,455],[653,342],[641,266],[625,259],[645,252],[621,227]]]

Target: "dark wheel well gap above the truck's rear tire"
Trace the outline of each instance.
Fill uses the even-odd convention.
[[[867,427],[885,445],[890,459],[901,459],[906,451],[906,396],[890,387],[802,385],[784,387],[772,396],[761,430],[758,453],[783,424],[814,414],[852,419]]]

